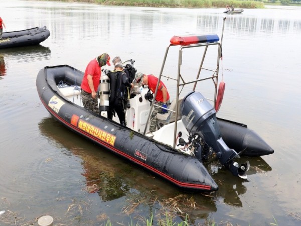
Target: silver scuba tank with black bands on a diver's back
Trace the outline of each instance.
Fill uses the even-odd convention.
[[[109,110],[110,80],[107,70],[102,69],[102,72],[99,80],[99,112]]]

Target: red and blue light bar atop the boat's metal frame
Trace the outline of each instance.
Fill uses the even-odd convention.
[[[218,35],[194,35],[174,36],[171,38],[172,45],[189,46],[191,44],[218,42]]]

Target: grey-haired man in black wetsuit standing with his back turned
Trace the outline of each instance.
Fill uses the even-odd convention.
[[[134,85],[129,83],[126,79],[126,74],[123,71],[122,63],[115,63],[114,70],[109,73],[110,77],[110,96],[109,96],[109,106],[108,119],[113,118],[113,114],[117,113],[119,122],[122,126],[126,126],[125,123],[125,112],[126,107],[126,97],[127,88],[132,88]]]

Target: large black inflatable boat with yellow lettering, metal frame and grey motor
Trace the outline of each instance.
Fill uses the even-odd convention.
[[[163,74],[169,49],[174,47],[179,48],[175,78]],[[214,60],[212,64],[214,68],[204,70],[202,60],[196,70],[196,79],[185,81],[181,68],[184,62],[182,52],[190,48],[203,48],[206,50],[203,53],[204,59],[211,47],[217,51],[217,61]],[[209,157],[217,159],[221,167],[229,169],[234,176],[246,179],[249,162],[238,163],[240,155],[262,156],[274,152],[258,134],[245,125],[216,118],[223,95],[217,91],[220,56],[221,43],[217,35],[172,37],[164,56],[159,81],[162,78],[172,79],[177,83],[177,90],[174,100],[168,106],[168,113],[158,113],[158,130],[153,133],[148,130],[149,116],[155,105],[152,100],[157,95],[159,84],[155,93],[150,93],[147,86],[132,81],[135,86],[128,99],[126,127],[119,124],[117,117],[110,120],[103,111],[95,114],[83,107],[80,85],[84,73],[74,67],[46,66],[39,71],[36,85],[46,109],[71,131],[182,190],[211,192],[216,191],[218,185],[206,167],[206,159]],[[208,75],[208,71],[212,74]],[[109,90],[107,73],[109,71],[103,69],[100,78],[100,109],[107,109],[108,104],[108,95],[104,92]],[[197,91],[198,83],[204,81],[213,81],[213,100]],[[181,87],[186,85],[191,85],[192,88],[185,89],[189,91],[181,95],[184,90]],[[218,98],[220,103],[216,104]]]

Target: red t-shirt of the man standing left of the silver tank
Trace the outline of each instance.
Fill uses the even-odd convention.
[[[88,93],[92,93],[92,90],[88,84],[88,74],[92,75],[92,80],[94,84],[94,90],[97,92],[99,79],[101,75],[101,67],[99,66],[96,59],[93,59],[89,62],[88,66],[86,67],[85,74],[82,80],[81,88]]]

